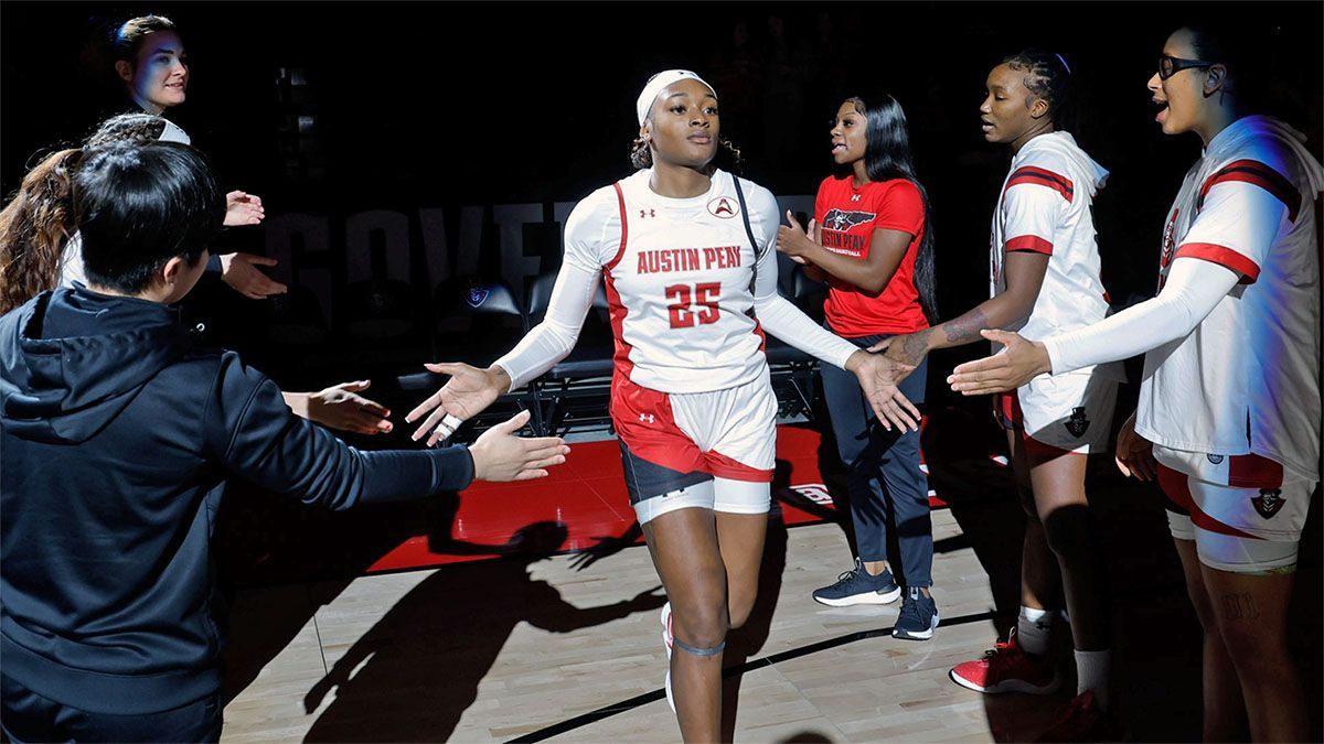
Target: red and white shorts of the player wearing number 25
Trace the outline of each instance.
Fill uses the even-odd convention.
[[[612,381],[612,420],[621,440],[630,503],[639,512],[641,502],[675,499],[681,490],[719,478],[761,487],[723,488],[752,495],[728,503],[731,499],[719,494],[718,506],[711,508],[768,511],[768,485],[776,465],[776,417],[777,397],[767,368],[752,383],[703,393],[662,393],[617,375]],[[749,499],[761,503],[744,503]],[[719,508],[723,504],[728,508]],[[641,520],[646,512],[653,514],[639,512]]]

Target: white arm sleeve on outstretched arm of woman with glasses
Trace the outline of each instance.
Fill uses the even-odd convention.
[[[1184,338],[1213,312],[1238,279],[1241,274],[1226,266],[1178,256],[1158,297],[1092,326],[1043,339],[1053,373],[1128,359]]]

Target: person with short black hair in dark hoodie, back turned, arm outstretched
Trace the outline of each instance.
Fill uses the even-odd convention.
[[[295,417],[169,303],[225,196],[175,143],[113,144],[74,177],[87,287],[0,316],[0,727],[13,741],[214,741],[224,609],[209,540],[228,478],[346,510],[547,475],[522,413],[470,447],[359,451]]]

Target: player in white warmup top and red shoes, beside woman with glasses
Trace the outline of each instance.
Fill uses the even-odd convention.
[[[988,75],[980,106],[984,138],[1012,150],[1012,167],[993,213],[990,299],[955,320],[891,339],[888,355],[918,360],[935,348],[981,340],[981,328],[1043,338],[1102,320],[1108,312],[1092,204],[1108,172],[1062,128],[1072,81],[1066,61],[1025,50]],[[1112,638],[1103,559],[1084,490],[1090,454],[1106,451],[1117,365],[1031,380],[1001,396],[997,416],[1029,519],[1021,553],[1021,613],[1016,631],[951,678],[980,692],[1049,695],[1061,676],[1049,639],[1063,598],[1075,646],[1076,696],[1046,740],[1120,735],[1110,710]]]

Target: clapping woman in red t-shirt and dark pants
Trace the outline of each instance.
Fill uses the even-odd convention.
[[[830,286],[828,326],[866,348],[928,327],[933,318],[933,237],[928,196],[915,179],[906,114],[890,95],[847,98],[831,128],[833,160],[845,171],[818,187],[814,222],[777,233],[777,250]],[[924,400],[925,363],[902,384]],[[854,377],[822,368],[824,397],[837,449],[849,467],[851,523],[859,556],[835,584],[814,592],[831,606],[888,604],[902,596],[898,638],[933,637],[933,530],[928,483],[919,469],[919,432],[870,424],[870,405]],[[899,564],[888,565],[888,531]],[[892,576],[892,568],[896,576]]]

